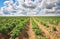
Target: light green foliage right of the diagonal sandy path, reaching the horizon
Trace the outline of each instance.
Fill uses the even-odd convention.
[[[42,25],[46,26],[47,28],[49,27],[48,24],[52,24],[53,26],[57,26],[60,22],[60,16],[41,16],[41,17],[35,17],[37,21],[39,21]]]

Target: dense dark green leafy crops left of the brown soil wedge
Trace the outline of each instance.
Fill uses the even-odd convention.
[[[20,35],[26,23],[29,21],[28,17],[0,17],[0,33],[9,35],[15,39]],[[5,38],[6,39],[6,38]]]

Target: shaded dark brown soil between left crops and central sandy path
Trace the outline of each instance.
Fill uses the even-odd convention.
[[[22,30],[21,34],[19,37],[15,38],[15,39],[29,39],[29,34],[28,34],[28,31],[29,31],[29,26],[30,25],[30,22],[28,22],[25,26],[25,29]]]

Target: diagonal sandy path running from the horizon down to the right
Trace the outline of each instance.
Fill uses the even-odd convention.
[[[38,25],[39,29],[42,30],[42,32],[44,32],[45,36],[48,38],[48,39],[55,39],[55,37],[53,35],[50,34],[50,31],[44,27],[43,25],[41,25],[38,21],[36,21],[35,18],[32,18],[35,23]]]

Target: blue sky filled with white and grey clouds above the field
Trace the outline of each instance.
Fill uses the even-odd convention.
[[[60,0],[1,0],[0,16],[60,16]]]

